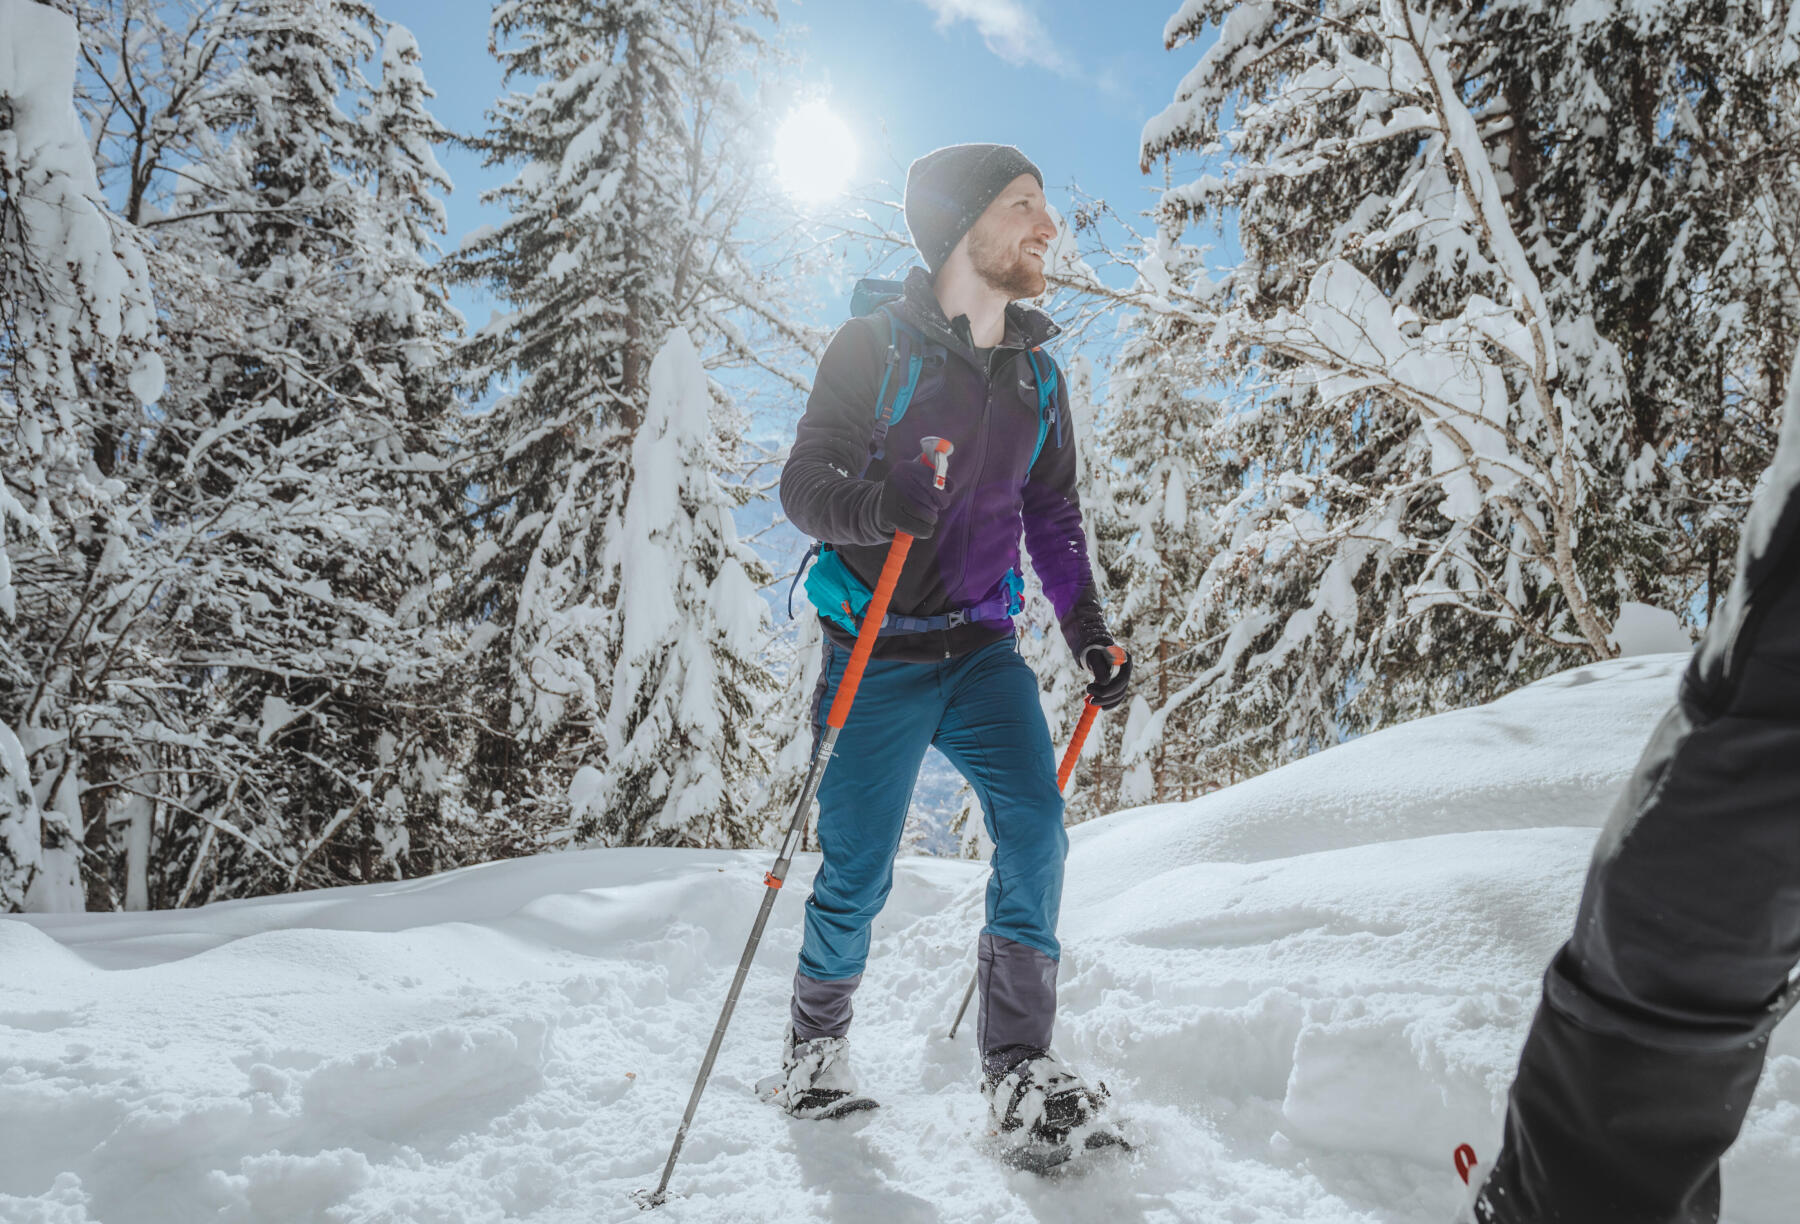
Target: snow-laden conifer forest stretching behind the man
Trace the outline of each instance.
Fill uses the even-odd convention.
[[[499,0],[473,131],[382,9],[0,0],[0,913],[794,803],[774,484],[817,302],[911,261],[898,182],[783,193],[776,0]],[[1690,641],[1800,346],[1800,4],[1150,9],[1157,203],[1049,184],[1136,661],[1069,821]],[[450,144],[500,223],[448,232]],[[1064,742],[1087,677],[1026,607]]]

